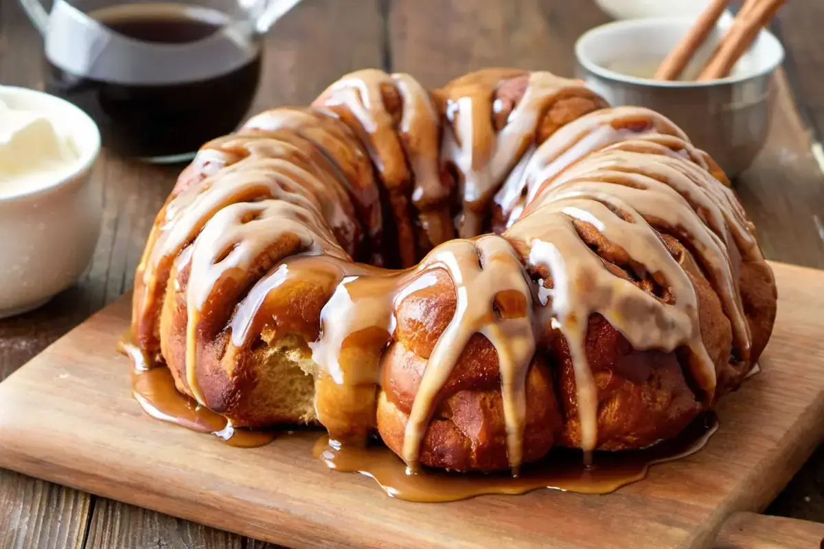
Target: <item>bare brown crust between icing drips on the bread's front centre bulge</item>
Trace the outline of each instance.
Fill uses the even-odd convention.
[[[411,400],[426,361],[396,342],[386,351],[382,367],[384,390],[378,400],[378,432],[386,445],[400,454]],[[399,384],[410,386],[401,388]],[[421,463],[457,471],[508,468],[498,358],[483,336],[476,335],[466,346],[439,402],[424,435]],[[552,375],[536,357],[527,373],[525,463],[549,451],[560,426]]]

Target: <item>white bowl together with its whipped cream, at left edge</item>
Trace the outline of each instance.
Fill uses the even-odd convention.
[[[100,234],[100,148],[81,109],[0,86],[0,318],[43,305],[86,270]]]

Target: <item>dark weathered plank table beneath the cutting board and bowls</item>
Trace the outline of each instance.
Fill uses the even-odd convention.
[[[574,40],[605,21],[591,0],[303,0],[266,40],[255,109],[305,104],[330,81],[360,67],[411,72],[426,86],[487,66],[569,75]],[[784,7],[775,30],[788,58],[778,79],[770,140],[736,181],[767,256],[815,268],[824,268],[824,174],[812,153],[824,132],[820,26],[824,3]],[[0,83],[42,86],[41,51],[16,1],[0,0]],[[105,215],[91,268],[49,305],[0,321],[0,380],[129,290],[152,218],[179,169],[103,156]],[[824,447],[766,512],[824,522]],[[773,520],[752,531],[765,536],[783,526],[796,533],[793,521]],[[724,543],[744,532],[730,528]],[[0,470],[0,547],[270,546]]]

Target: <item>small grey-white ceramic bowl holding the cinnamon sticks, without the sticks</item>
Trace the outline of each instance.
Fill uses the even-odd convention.
[[[784,48],[762,30],[729,77],[714,81],[656,81],[658,63],[690,29],[686,19],[616,21],[589,30],[575,44],[577,76],[611,105],[648,107],[677,123],[731,177],[746,170],[769,130],[772,76]],[[686,67],[700,72],[718,44],[714,30]]]

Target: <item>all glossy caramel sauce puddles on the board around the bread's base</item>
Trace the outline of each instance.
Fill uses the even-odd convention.
[[[132,342],[127,333],[118,350],[133,363],[132,393],[143,412],[200,433],[218,436],[223,442],[242,448],[269,444],[275,433],[264,430],[234,428],[226,418],[181,394],[165,366],[152,367],[151,361]],[[675,439],[653,447],[622,452],[593,452],[592,464],[584,464],[579,450],[553,449],[546,458],[527,463],[520,475],[509,472],[447,472],[424,468],[415,474],[406,471],[405,463],[382,443],[366,447],[342,445],[328,436],[315,443],[313,454],[326,467],[339,472],[359,472],[373,478],[391,497],[417,502],[466,500],[476,495],[525,494],[539,488],[574,491],[581,494],[608,494],[621,486],[647,476],[651,465],[685,458],[702,449],[718,430],[712,412],[698,416]],[[303,435],[307,435],[303,433]]]

